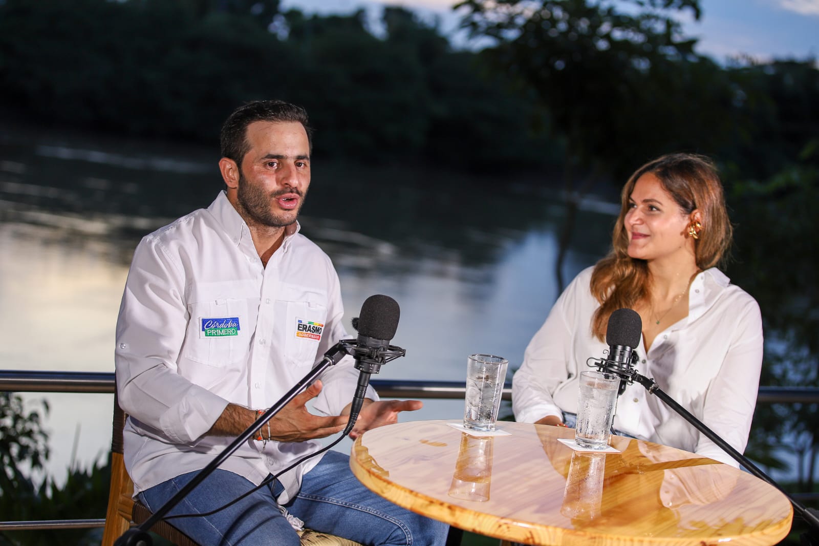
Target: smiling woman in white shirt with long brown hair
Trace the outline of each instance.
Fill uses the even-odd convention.
[[[722,184],[708,158],[676,153],[641,166],[622,189],[612,253],[572,280],[527,347],[513,379],[515,418],[566,425],[586,360],[609,348],[609,316],[631,307],[643,321],[637,371],[742,453],[762,366],[762,317],[716,267],[730,244]],[[618,398],[613,428],[739,466],[640,384]]]

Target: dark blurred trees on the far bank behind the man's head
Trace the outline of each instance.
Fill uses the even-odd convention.
[[[477,53],[402,8],[383,25],[377,37],[364,11],[308,17],[275,0],[6,0],[0,102],[41,122],[213,143],[238,104],[283,98],[310,112],[322,157],[543,163],[532,102],[484,78]]]

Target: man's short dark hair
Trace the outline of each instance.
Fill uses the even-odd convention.
[[[310,151],[313,149],[313,130],[307,120],[307,111],[300,106],[279,100],[251,101],[238,107],[228,116],[222,125],[219,134],[222,157],[233,159],[237,165],[242,165],[242,159],[250,149],[247,142],[247,125],[254,121],[270,121],[281,123],[297,121],[305,128]]]

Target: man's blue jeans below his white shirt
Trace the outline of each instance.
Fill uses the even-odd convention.
[[[139,494],[156,510],[192,480],[196,472],[179,475]],[[238,503],[210,516],[171,519],[169,523],[203,546],[281,544],[298,546],[299,537],[278,510],[274,493],[278,482],[265,485]],[[253,488],[233,472],[217,469],[170,511],[173,514],[210,512]],[[361,485],[350,470],[350,459],[329,451],[304,475],[301,490],[287,511],[310,529],[355,540],[361,544],[444,544],[449,526],[419,516],[379,497]]]

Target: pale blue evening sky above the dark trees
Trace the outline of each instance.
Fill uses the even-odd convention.
[[[282,0],[282,7],[305,13],[350,13],[359,7],[378,17],[385,4],[406,7],[425,20],[440,17],[441,29],[456,30],[453,0]],[[700,0],[703,16],[684,23],[686,34],[699,39],[697,51],[725,61],[749,56],[771,58],[819,57],[819,0]],[[455,35],[453,42],[458,45]]]

